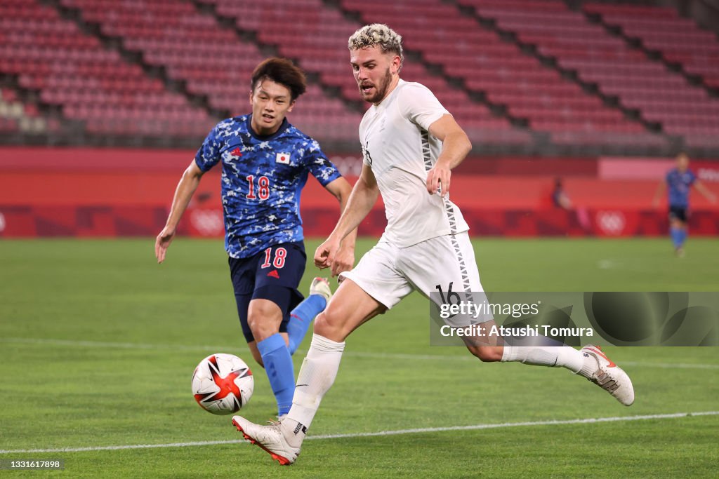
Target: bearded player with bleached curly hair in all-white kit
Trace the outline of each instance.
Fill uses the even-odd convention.
[[[472,145],[428,88],[400,80],[401,40],[384,24],[367,25],[349,37],[354,78],[362,99],[372,103],[359,125],[364,165],[334,231],[317,248],[315,264],[337,273],[334,257],[342,238],[357,228],[380,193],[385,233],[352,271],[340,274],[344,281],[316,317],[287,417],[269,426],[232,419],[247,440],[283,465],[297,459],[322,396],[334,383],[344,340],[354,329],[414,289],[426,297],[437,287],[447,291],[450,283],[454,291],[482,291],[469,227],[449,200],[452,169]],[[634,400],[629,377],[595,346],[519,347],[493,337],[468,342],[467,348],[482,361],[563,366],[622,404]]]

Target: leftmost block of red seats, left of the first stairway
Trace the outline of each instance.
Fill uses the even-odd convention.
[[[101,47],[52,6],[4,0],[3,10],[0,70],[39,91],[68,120],[83,121],[88,133],[183,135],[209,124],[205,111]]]

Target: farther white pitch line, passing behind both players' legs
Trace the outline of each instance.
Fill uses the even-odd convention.
[[[119,348],[119,349],[142,349],[142,350],[183,350],[183,351],[209,351],[209,352],[249,352],[247,348],[237,346],[210,346],[210,345],[173,345],[173,344],[147,344],[147,343],[111,343],[104,341],[78,341],[52,338],[0,338],[0,343],[8,344],[50,344],[55,346],[70,346],[84,348]],[[298,354],[306,354],[306,350],[298,349]],[[375,353],[371,351],[344,351],[349,357],[355,358],[378,358],[378,359],[406,359],[406,360],[429,360],[429,361],[477,361],[474,356],[463,355],[441,355],[441,354],[411,354],[411,353]],[[719,369],[719,364],[701,363],[645,363],[641,361],[622,361],[623,366],[638,366],[648,368],[666,369]]]

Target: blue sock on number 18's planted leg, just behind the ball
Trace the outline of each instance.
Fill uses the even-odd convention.
[[[285,339],[276,332],[270,338],[258,342],[257,349],[260,350],[267,379],[277,400],[277,414],[287,414],[295,394],[295,368]]]

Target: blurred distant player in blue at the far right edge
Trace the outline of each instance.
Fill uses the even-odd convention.
[[[689,192],[694,186],[707,200],[716,203],[716,197],[689,169],[689,156],[682,152],[677,155],[677,166],[670,169],[667,177],[659,182],[654,195],[654,208],[664,190],[669,189],[669,236],[672,237],[674,252],[684,256],[684,241],[687,241],[687,218],[689,218]]]

